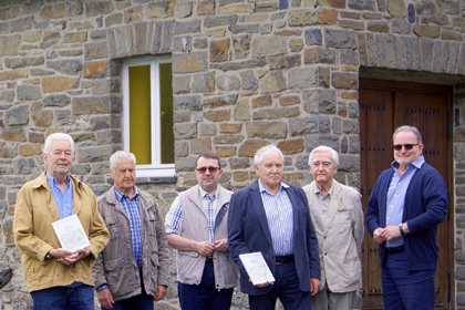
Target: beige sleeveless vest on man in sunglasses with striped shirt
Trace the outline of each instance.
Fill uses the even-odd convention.
[[[202,197],[196,185],[179,194],[184,219],[182,237],[203,241],[208,240],[207,215],[203,208]],[[218,185],[218,207],[215,214],[215,240],[228,238],[228,213],[231,192]],[[176,204],[176,200],[174,202]],[[176,207],[176,206],[172,206]],[[214,273],[216,289],[234,288],[237,285],[238,271],[229,257],[229,252],[215,251]],[[186,285],[199,285],[205,267],[205,257],[196,251],[177,250],[176,256],[177,280]]]

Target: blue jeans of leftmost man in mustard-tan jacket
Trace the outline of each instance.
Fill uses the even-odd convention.
[[[94,310],[94,288],[80,282],[31,292],[34,310]]]

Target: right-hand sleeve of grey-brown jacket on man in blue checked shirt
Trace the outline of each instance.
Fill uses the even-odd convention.
[[[158,244],[158,279],[157,283],[162,286],[168,286],[168,277],[169,277],[169,250],[168,250],[168,241],[166,239],[165,232],[165,223],[159,214],[158,207],[155,205],[155,216],[156,216],[156,238]]]

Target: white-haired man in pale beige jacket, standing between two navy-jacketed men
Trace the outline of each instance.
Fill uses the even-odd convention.
[[[352,310],[361,286],[361,196],[333,178],[338,164],[333,148],[313,148],[309,156],[313,182],[303,187],[320,251],[320,290],[311,300],[312,310]]]

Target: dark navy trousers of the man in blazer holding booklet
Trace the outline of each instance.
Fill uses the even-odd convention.
[[[293,261],[276,265],[273,276],[276,282],[269,292],[259,296],[249,294],[250,310],[275,310],[278,298],[286,310],[310,309],[310,292],[300,290]]]

